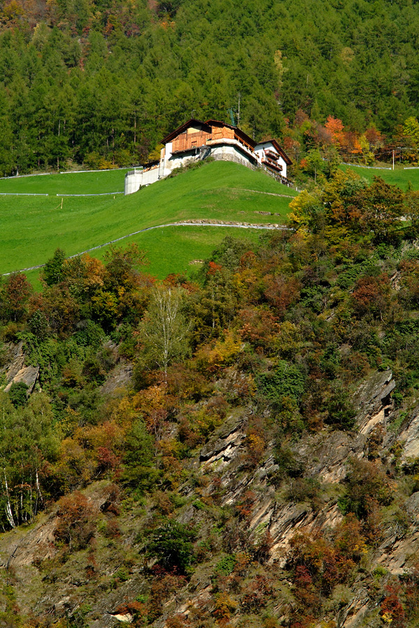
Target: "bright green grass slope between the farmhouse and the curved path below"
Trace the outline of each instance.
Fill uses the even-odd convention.
[[[215,162],[126,197],[64,198],[62,210],[57,197],[0,197],[0,272],[43,264],[57,246],[72,255],[144,227],[177,220],[281,223],[285,219],[288,197],[247,192],[246,188],[289,198],[293,194],[293,190],[263,172],[235,163]],[[279,215],[264,216],[260,211]],[[152,232],[149,250],[158,239]],[[173,255],[177,255],[174,244],[172,248]],[[196,253],[190,259],[194,257]]]

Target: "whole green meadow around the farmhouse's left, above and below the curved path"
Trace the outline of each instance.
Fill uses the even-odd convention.
[[[124,173],[121,170],[71,173],[68,177],[75,177],[73,181],[76,181],[77,177],[84,178],[85,174],[104,177],[101,181],[102,191],[106,188],[105,179],[112,178],[113,184],[113,177],[119,174],[123,187]],[[20,182],[27,191],[32,178],[42,179],[42,184],[36,185],[44,186],[44,193],[50,193],[48,181],[56,176],[64,177],[25,177]],[[4,184],[4,181],[0,183]],[[41,190],[40,187],[37,189]],[[92,193],[91,189],[98,188],[92,186],[86,192],[83,183],[80,188],[73,184],[72,189],[73,192],[66,193]],[[80,189],[83,191],[75,191]],[[145,227],[179,220],[284,223],[293,195],[294,190],[282,186],[262,171],[219,161],[204,164],[198,170],[188,170],[171,179],[163,179],[128,196],[64,197],[62,209],[61,198],[56,196],[0,196],[0,273],[43,264],[57,247],[63,248],[67,255],[75,255]],[[149,271],[164,276],[169,272],[185,271],[191,260],[207,256],[224,237],[224,227],[220,229],[219,237],[216,231],[216,227],[172,227],[171,230],[138,234],[135,241],[148,252]],[[245,232],[239,229],[230,231],[237,235]],[[122,240],[120,245],[128,241]],[[92,255],[99,257],[101,251],[94,251]],[[34,273],[38,276],[38,271]],[[28,276],[32,278],[33,273]]]

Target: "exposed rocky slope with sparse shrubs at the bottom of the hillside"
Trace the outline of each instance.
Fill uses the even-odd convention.
[[[94,521],[91,540],[79,548],[59,540],[60,503],[34,525],[2,534],[4,617],[13,599],[20,613],[45,625],[145,625],[147,613],[156,627],[210,626],[224,613],[225,625],[256,626],[260,595],[263,625],[290,625],[297,607],[293,539],[298,533],[328,538],[339,530],[351,461],[369,460],[385,469],[394,495],[358,567],[333,589],[324,611],[329,623],[311,625],[384,625],[385,585],[408,578],[419,551],[419,493],[404,486],[409,476],[396,481],[419,454],[419,411],[395,408],[394,386],[390,371],[372,373],[355,394],[353,431],[323,428],[270,442],[256,462],[249,460],[251,411],[237,408],[191,458],[176,491],[123,502],[115,484],[100,481],[79,494]],[[198,531],[193,569],[175,570],[163,581],[147,553],[156,512]]]

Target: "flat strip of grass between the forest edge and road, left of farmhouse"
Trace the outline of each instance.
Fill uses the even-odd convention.
[[[101,194],[123,192],[126,170],[42,174],[34,177],[0,179],[0,193]]]

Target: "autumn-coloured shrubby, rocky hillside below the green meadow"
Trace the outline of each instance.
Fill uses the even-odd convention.
[[[290,208],[194,281],[135,246],[3,281],[2,625],[417,627],[419,193]]]

